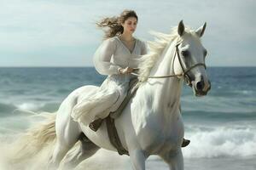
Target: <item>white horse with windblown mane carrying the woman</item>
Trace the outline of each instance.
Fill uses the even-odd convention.
[[[196,96],[206,95],[211,87],[205,65],[207,51],[200,40],[205,28],[206,24],[193,31],[181,21],[171,34],[155,33],[158,40],[149,43],[150,53],[143,56],[140,65],[137,94],[115,120],[121,144],[129,151],[136,170],[145,169],[150,155],[162,157],[172,170],[183,169],[184,127],[179,109],[183,80]],[[158,76],[166,78],[148,78]],[[105,122],[94,132],[88,127],[90,122],[74,122],[71,117],[79,99],[96,88],[84,86],[73,91],[62,102],[49,127],[44,126],[44,138],[48,139],[55,128],[56,135],[50,137],[56,139],[51,156],[55,167],[60,162],[64,167],[75,167],[100,148],[117,151],[108,139]],[[79,150],[67,154],[79,140]]]

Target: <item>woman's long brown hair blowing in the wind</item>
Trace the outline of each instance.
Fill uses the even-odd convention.
[[[125,23],[125,20],[130,17],[135,17],[138,20],[135,11],[125,9],[119,16],[105,17],[99,22],[96,22],[96,26],[102,29],[108,27],[104,36],[104,39],[108,39],[122,34],[124,27],[121,24]]]

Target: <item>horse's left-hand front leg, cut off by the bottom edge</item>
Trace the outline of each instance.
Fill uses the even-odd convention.
[[[129,155],[134,170],[145,170],[146,156],[143,150],[129,150]]]

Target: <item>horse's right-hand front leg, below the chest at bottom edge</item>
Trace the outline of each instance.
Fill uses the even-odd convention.
[[[176,152],[166,152],[160,156],[166,161],[171,170],[183,170],[183,153],[181,149]]]

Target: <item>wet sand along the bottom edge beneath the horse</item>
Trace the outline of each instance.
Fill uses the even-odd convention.
[[[223,158],[184,158],[184,169],[189,170],[255,170],[256,156]],[[128,156],[119,156],[108,150],[99,150],[95,156],[83,161],[76,170],[132,170]],[[147,170],[167,170],[167,164],[158,156],[150,156],[146,161]]]

